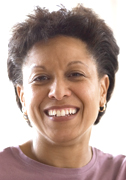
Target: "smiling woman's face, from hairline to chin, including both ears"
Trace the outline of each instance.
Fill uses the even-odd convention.
[[[90,136],[99,107],[106,102],[108,77],[98,78],[86,44],[59,36],[36,43],[23,66],[17,91],[38,137],[55,143]]]

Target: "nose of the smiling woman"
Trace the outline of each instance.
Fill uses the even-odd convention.
[[[69,89],[68,82],[63,80],[56,80],[52,83],[48,97],[51,99],[62,100],[64,97],[69,97],[71,90]]]

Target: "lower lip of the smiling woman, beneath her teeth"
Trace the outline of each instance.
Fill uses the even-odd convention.
[[[73,114],[73,115],[70,115],[70,116],[60,116],[60,117],[48,116],[48,117],[49,117],[50,120],[55,121],[55,122],[64,122],[64,121],[72,120],[76,115],[77,115],[77,113]]]

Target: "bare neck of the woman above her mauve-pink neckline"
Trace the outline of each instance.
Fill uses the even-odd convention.
[[[89,163],[92,150],[86,141],[74,144],[54,144],[38,138],[21,146],[30,158],[60,168],[80,168]]]

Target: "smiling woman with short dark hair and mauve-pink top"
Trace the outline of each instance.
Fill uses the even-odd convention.
[[[8,76],[32,140],[0,153],[0,179],[124,180],[126,158],[89,146],[118,70],[112,31],[79,5],[37,7],[9,42]]]

